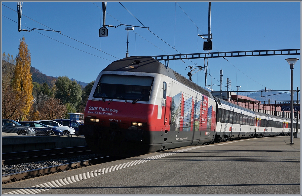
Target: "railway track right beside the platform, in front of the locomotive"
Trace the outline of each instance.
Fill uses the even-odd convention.
[[[2,175],[2,184],[30,179],[30,178],[38,177],[41,175],[47,175],[47,174],[52,174],[52,173],[56,173],[56,172],[64,172],[64,171],[70,170],[70,169],[77,169],[80,167],[85,167],[85,166],[95,165],[95,164],[100,164],[100,163],[106,163],[106,162],[119,160],[119,159],[122,159],[122,158],[115,157],[115,156],[103,156],[100,158],[95,158],[95,159],[90,159],[90,160],[82,160],[82,161],[77,161],[77,162],[73,162],[73,163],[65,163],[62,165],[49,166],[49,167],[32,169],[32,170],[23,171],[23,172],[5,174],[5,175]]]

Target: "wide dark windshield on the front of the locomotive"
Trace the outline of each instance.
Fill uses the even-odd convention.
[[[93,97],[148,101],[154,77],[103,74]]]

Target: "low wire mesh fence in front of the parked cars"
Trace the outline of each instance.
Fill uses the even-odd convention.
[[[49,136],[51,127],[8,127],[2,126],[3,133],[16,133],[18,135]]]

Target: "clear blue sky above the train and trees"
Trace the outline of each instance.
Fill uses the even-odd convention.
[[[121,3],[143,25],[170,45],[147,29],[135,27],[134,31],[129,32],[129,56],[179,54],[177,51],[182,54],[205,52],[204,40],[197,33],[207,34],[208,2]],[[64,36],[42,30],[18,32],[18,24],[15,23],[18,22],[16,2],[2,2],[1,53],[10,53],[15,57],[19,40],[24,36],[31,52],[31,66],[46,75],[66,75],[89,83],[107,65],[124,58],[126,53],[125,26],[108,27],[108,37],[98,37],[98,29],[102,24],[100,8],[101,2],[23,2],[22,29],[51,28],[61,31],[66,35]],[[143,26],[119,2],[107,2],[106,11],[106,25]],[[211,33],[214,46],[212,52],[300,49],[301,2],[212,2]],[[301,59],[298,55],[230,57],[226,58],[228,61],[212,58],[209,61],[207,84],[220,85],[219,71],[222,69],[223,84],[226,85],[226,78],[230,78],[232,90],[237,90],[236,86],[241,86],[240,90],[261,90],[265,87],[289,90],[290,67],[285,58]],[[169,67],[188,78],[189,70],[185,70],[187,66],[194,63],[204,66],[203,59],[184,61],[185,63],[179,60],[170,61]],[[301,60],[294,67],[294,89],[297,86],[300,89],[300,67]],[[204,87],[204,71],[194,74],[193,81]],[[212,88],[220,90],[220,86]],[[222,88],[225,89],[226,87]]]

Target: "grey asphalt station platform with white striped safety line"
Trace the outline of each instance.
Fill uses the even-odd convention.
[[[301,194],[300,138],[189,146],[2,185],[2,194]]]

